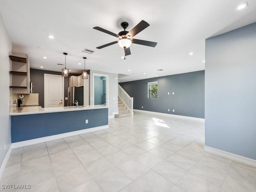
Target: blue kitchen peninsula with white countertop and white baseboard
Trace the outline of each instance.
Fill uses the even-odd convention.
[[[10,116],[12,143],[19,143],[17,147],[108,128],[104,105],[16,107]]]

